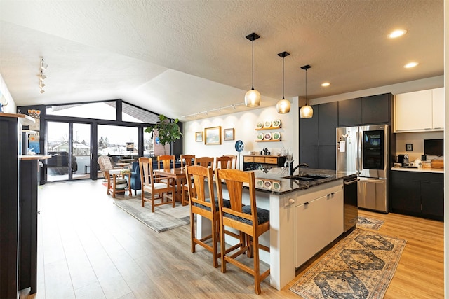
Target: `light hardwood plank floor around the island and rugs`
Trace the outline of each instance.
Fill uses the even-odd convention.
[[[265,279],[257,296],[249,274],[222,274],[208,251],[190,252],[189,225],[158,234],[112,202],[100,180],[39,187],[38,291],[20,298],[300,298],[288,288],[314,265],[282,291]],[[407,240],[384,298],[443,298],[443,223],[359,214]]]

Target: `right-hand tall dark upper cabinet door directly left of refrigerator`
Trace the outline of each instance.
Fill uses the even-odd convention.
[[[338,103],[318,106],[318,145],[335,146],[335,129],[338,125]]]

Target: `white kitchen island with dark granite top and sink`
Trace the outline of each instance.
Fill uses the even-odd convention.
[[[254,172],[257,207],[270,211],[270,230],[260,237],[270,253],[260,251],[260,259],[270,265],[270,285],[281,290],[295,278],[297,267],[343,233],[343,180],[356,173],[301,168],[294,179],[288,179],[286,167]],[[223,192],[226,198],[225,188]],[[243,203],[248,204],[248,193],[243,196]],[[210,224],[201,222],[199,234],[210,233]]]

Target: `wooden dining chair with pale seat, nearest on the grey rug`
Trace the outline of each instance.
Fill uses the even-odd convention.
[[[152,212],[154,207],[162,204],[172,204],[175,207],[175,180],[156,178],[153,173],[152,158],[139,158],[139,167],[142,182],[142,207],[145,207],[145,202],[151,202]],[[148,197],[147,193],[151,196]]]

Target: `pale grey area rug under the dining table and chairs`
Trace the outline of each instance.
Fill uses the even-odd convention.
[[[190,208],[188,205],[182,206],[180,202],[176,202],[175,208],[171,204],[154,207],[154,213],[152,213],[149,202],[146,202],[145,207],[142,207],[140,197],[126,200],[116,199],[114,204],[155,232],[165,232],[190,223]]]

